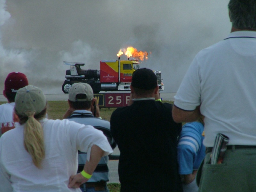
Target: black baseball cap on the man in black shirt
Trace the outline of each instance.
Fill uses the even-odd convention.
[[[145,90],[156,88],[157,78],[155,73],[148,68],[137,69],[132,74],[132,86]]]

